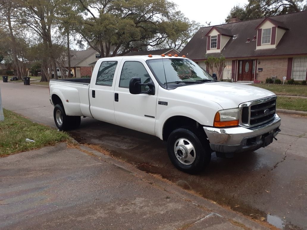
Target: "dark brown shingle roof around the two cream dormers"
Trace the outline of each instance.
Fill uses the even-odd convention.
[[[252,38],[257,36],[257,30],[255,28],[264,20],[263,18],[259,18],[216,26],[230,30],[236,38],[230,38],[220,53],[210,53],[210,56],[223,55],[225,58],[239,58],[307,54],[307,23],[303,23],[307,21],[307,11],[269,18],[283,23],[289,29],[286,30],[276,48],[256,50],[256,41],[253,41]],[[207,37],[205,35],[212,27],[200,28],[180,52],[180,56],[185,55],[187,58],[193,60],[205,59],[207,52]],[[250,42],[246,42],[247,38],[251,39]]]

